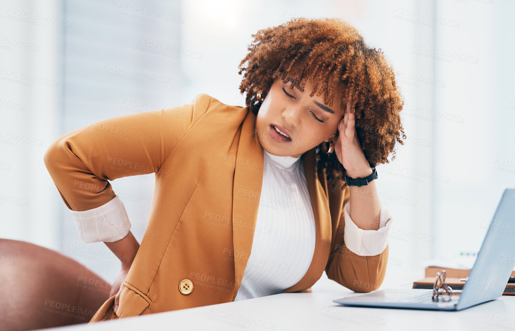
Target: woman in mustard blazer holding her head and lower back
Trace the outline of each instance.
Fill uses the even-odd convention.
[[[381,285],[391,217],[374,166],[406,137],[392,69],[338,19],[253,37],[245,108],[200,94],[77,129],[45,153],[84,242],[122,260],[91,322],[308,290],[324,270],[354,291]],[[108,180],[151,172],[140,246]]]

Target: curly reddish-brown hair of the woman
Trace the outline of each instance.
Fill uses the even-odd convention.
[[[330,107],[336,89],[342,89],[342,115],[352,88],[356,133],[367,161],[373,166],[389,163],[387,158],[392,151],[391,160],[395,158],[396,141],[404,145],[400,134],[406,139],[399,115],[404,100],[381,48],[370,48],[354,27],[336,18],[293,18],[282,25],[258,30],[252,37],[250,53],[238,65],[238,74],[246,71],[239,89],[242,94],[247,92],[245,104],[255,115],[277,77],[283,83],[293,79],[290,88],[301,85],[302,91],[307,79],[313,80],[310,96],[324,93],[324,103]],[[334,79],[330,82],[332,73]],[[318,88],[320,81],[322,85]],[[256,96],[259,92],[261,99]],[[347,170],[336,154],[323,153],[321,144],[315,152],[318,173],[325,172],[332,190],[338,183],[343,190]]]

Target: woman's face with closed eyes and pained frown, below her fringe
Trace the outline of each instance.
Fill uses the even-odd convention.
[[[304,92],[300,92],[300,86],[290,89],[290,84],[283,84],[280,78],[274,80],[256,117],[256,131],[261,146],[270,154],[297,158],[323,141],[336,140],[338,123],[344,115],[340,111],[340,90],[330,108],[323,103],[323,94],[310,97],[311,81],[306,82]]]

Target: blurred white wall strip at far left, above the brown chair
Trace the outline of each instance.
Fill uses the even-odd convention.
[[[56,247],[60,206],[43,155],[61,130],[63,26],[37,13],[57,22],[63,13],[58,1],[0,10],[0,237]]]

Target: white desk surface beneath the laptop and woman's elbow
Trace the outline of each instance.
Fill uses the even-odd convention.
[[[390,287],[390,286],[389,286]],[[406,288],[404,286],[398,286]],[[409,288],[409,287],[408,287]],[[358,295],[327,278],[312,292],[280,293],[217,305],[44,330],[515,330],[515,295],[460,311],[345,307],[335,299]],[[435,324],[435,322],[438,322]]]

